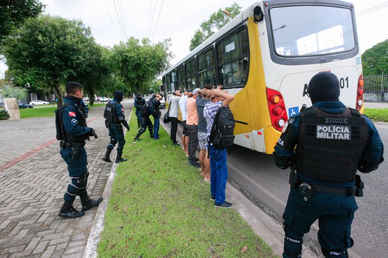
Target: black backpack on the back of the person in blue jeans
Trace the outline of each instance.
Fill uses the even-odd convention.
[[[211,125],[209,141],[215,148],[227,148],[233,145],[235,121],[229,107],[221,106]]]

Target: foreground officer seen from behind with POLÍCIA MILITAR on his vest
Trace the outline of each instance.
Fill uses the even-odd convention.
[[[291,166],[283,257],[301,257],[303,235],[318,219],[323,255],[345,258],[353,246],[355,195],[362,196],[363,182],[356,170],[377,169],[384,160],[383,143],[366,116],[339,101],[334,74],[313,76],[307,94],[313,105],[291,116],[274,152],[277,167]]]

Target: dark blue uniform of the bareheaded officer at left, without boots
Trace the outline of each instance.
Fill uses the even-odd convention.
[[[61,110],[61,118],[68,145],[63,145],[60,152],[71,177],[71,183],[67,186],[64,199],[66,202],[73,203],[76,195],[87,196],[86,184],[89,172],[86,167],[88,164],[87,154],[83,146],[85,140],[92,135],[93,129],[86,126],[82,111],[76,108],[81,104],[81,100],[66,96],[66,103],[71,105],[65,106]]]

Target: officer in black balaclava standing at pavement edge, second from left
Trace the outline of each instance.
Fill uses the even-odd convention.
[[[121,161],[127,161],[127,159],[123,159],[121,157],[123,153],[123,148],[125,144],[124,139],[124,132],[123,127],[121,124],[123,124],[127,130],[129,131],[129,125],[127,121],[125,120],[124,116],[124,108],[123,105],[120,104],[120,102],[123,100],[123,92],[122,91],[114,91],[113,93],[113,100],[108,102],[105,107],[104,111],[104,118],[105,125],[109,129],[109,136],[111,137],[111,142],[106,147],[106,153],[105,156],[102,158],[103,161],[106,162],[112,162],[109,158],[109,155],[111,154],[114,145],[118,142],[117,146],[117,156],[115,163],[119,163]]]

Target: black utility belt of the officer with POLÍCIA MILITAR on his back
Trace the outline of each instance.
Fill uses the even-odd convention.
[[[314,193],[336,194],[356,197],[363,196],[362,189],[364,188],[364,182],[361,181],[361,177],[359,175],[356,175],[356,184],[349,187],[333,187],[304,182],[293,171],[290,172],[289,182],[292,188],[298,188],[299,194],[305,197],[305,200],[307,200],[306,198],[312,197]]]

